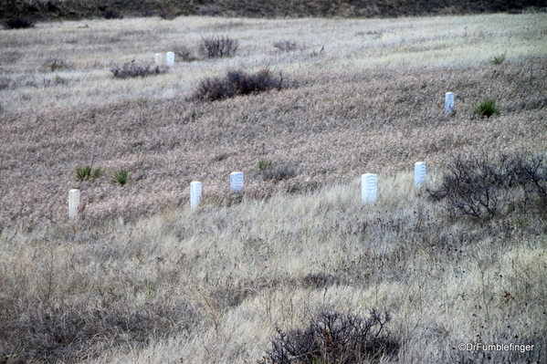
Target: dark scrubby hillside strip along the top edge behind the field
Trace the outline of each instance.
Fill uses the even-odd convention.
[[[100,16],[246,16],[246,17],[392,17],[435,16],[510,12],[513,14],[547,6],[545,0],[298,0],[252,1],[77,1],[6,0],[0,18],[28,16],[36,19],[81,19]]]

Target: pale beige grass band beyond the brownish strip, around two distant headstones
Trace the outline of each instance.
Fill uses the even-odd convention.
[[[399,19],[223,19],[179,17],[89,20],[38,24],[35,29],[3,31],[0,90],[7,110],[76,107],[120,99],[163,99],[192,93],[197,82],[229,68],[272,68],[286,78],[314,78],[340,69],[377,67],[465,68],[505,54],[508,60],[547,54],[545,14],[444,16]],[[236,57],[177,59],[166,75],[112,79],[110,68],[124,62],[153,62],[158,52],[186,46],[196,50],[201,36],[230,36],[240,43]],[[273,47],[293,39],[297,50]],[[321,51],[322,49],[322,51]],[[39,70],[52,59],[68,69]],[[65,84],[47,86],[56,77]]]

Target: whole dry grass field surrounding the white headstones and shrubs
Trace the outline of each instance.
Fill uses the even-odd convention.
[[[208,36],[237,54],[202,56]],[[544,13],[1,30],[0,362],[256,363],[276,328],[372,309],[391,313],[398,349],[359,362],[547,362],[544,206],[515,188],[488,219],[463,216],[411,173],[427,161],[436,189],[459,153],[546,155],[546,36]],[[112,76],[166,51],[165,73]],[[264,68],[282,88],[193,98],[205,78]],[[472,112],[485,98],[499,115]],[[78,181],[82,165],[105,174]],[[365,172],[375,204],[360,200]]]

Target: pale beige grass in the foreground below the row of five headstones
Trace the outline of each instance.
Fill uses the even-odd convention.
[[[544,222],[531,218],[529,228],[513,229],[518,216],[510,216],[488,232],[449,224],[412,180],[411,173],[384,178],[384,197],[365,206],[354,180],[131,224],[5,229],[2,299],[82,315],[121,305],[127,315],[152,310],[159,322],[189,325],[164,328],[168,338],[151,333],[148,346],[112,338],[110,348],[89,348],[99,355],[86,360],[93,363],[255,362],[276,327],[303,328],[321,309],[390,310],[388,329],[403,344],[398,362],[477,359],[480,353],[455,347],[479,339],[542,348],[547,245],[531,227],[544,229]],[[329,278],[316,286],[310,277],[318,275]],[[489,354],[542,362],[538,351]]]

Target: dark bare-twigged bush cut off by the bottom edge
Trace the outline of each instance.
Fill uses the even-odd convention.
[[[261,363],[353,364],[394,358],[400,345],[384,332],[390,320],[387,311],[373,310],[368,318],[321,312],[303,330],[284,332],[278,328],[278,336],[271,340],[272,347]]]

